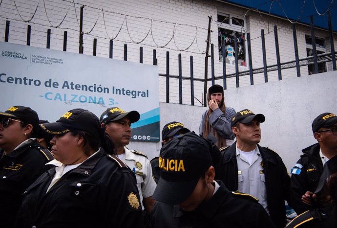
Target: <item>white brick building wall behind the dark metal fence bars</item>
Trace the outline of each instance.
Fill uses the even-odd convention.
[[[18,10],[24,20],[32,17],[39,1],[37,0],[16,0]],[[139,61],[139,47],[143,46],[143,61],[146,64],[152,64],[152,50],[157,50],[157,59],[159,72],[166,72],[166,51],[170,52],[170,74],[178,75],[178,54],[182,54],[182,74],[190,76],[190,55],[193,55],[194,77],[204,78],[204,58],[205,54],[201,51],[206,49],[205,40],[207,39],[208,16],[216,21],[217,13],[229,13],[234,17],[243,18],[247,9],[236,7],[230,4],[207,1],[207,0],[76,0],[74,4],[70,4],[69,0],[45,0],[46,12],[49,20],[55,26],[61,23],[63,17],[65,20],[59,28],[51,27],[44,10],[43,1],[39,2],[38,10],[33,20],[29,23],[22,22],[18,11],[14,5],[14,1],[3,0],[0,5],[0,40],[4,39],[4,30],[6,20],[10,21],[10,43],[25,44],[27,25],[32,26],[31,46],[46,46],[47,29],[51,28],[51,49],[63,50],[63,32],[67,31],[67,51],[77,52],[79,50],[79,24],[80,6],[84,7],[84,32],[89,32],[94,26],[97,18],[97,24],[89,34],[84,34],[84,54],[92,55],[93,39],[97,38],[97,56],[109,56],[109,37],[113,38],[118,33],[124,21],[122,29],[114,40],[113,58],[123,59],[124,44],[127,44],[127,60],[132,62]],[[70,8],[69,8],[70,6]],[[105,24],[103,13],[100,9],[104,9]],[[99,17],[98,17],[99,16]],[[192,44],[188,51],[180,52],[174,45],[173,40],[165,48],[156,47],[152,40],[151,34],[141,44],[135,42],[142,40],[150,29],[152,21],[153,39],[159,46],[163,46],[169,42],[173,34],[174,23],[176,26],[175,42],[180,49],[185,49],[192,43],[195,36],[195,26],[200,27],[197,32],[197,42]],[[169,22],[169,23],[167,23]],[[183,24],[183,25],[180,25]],[[278,27],[278,42],[280,46],[281,62],[295,59],[292,24],[286,20],[281,20],[268,15],[263,15],[250,11],[245,18],[246,30],[251,33],[253,67],[262,67],[262,51],[261,51],[261,29],[265,30],[267,64],[275,64],[275,44],[274,44],[274,24]],[[268,26],[269,25],[269,26]],[[106,26],[106,30],[105,30]],[[222,63],[218,62],[218,44],[217,44],[217,25],[214,21],[211,23],[211,42],[214,44],[214,60],[215,60],[215,76],[222,75]],[[304,25],[296,25],[297,41],[299,49],[299,57],[306,56],[305,34],[310,34],[310,28]],[[269,32],[269,33],[268,33]],[[108,33],[108,35],[106,34]],[[328,33],[322,30],[316,30],[316,36],[326,38],[327,51],[330,50]],[[199,50],[200,49],[200,50]],[[337,36],[335,35],[335,50],[337,49]],[[210,50],[211,54],[211,50]],[[248,56],[248,53],[247,53]],[[248,61],[247,61],[248,62]],[[332,65],[328,64],[331,69]],[[245,70],[248,67],[239,66],[239,70]],[[227,65],[227,73],[235,72],[234,65]],[[308,74],[307,67],[301,67],[302,75]],[[282,70],[282,78],[296,77],[296,69]],[[209,59],[209,78],[211,78],[211,59]],[[277,71],[268,72],[269,81],[277,81]],[[222,80],[216,83],[222,84]],[[254,75],[254,84],[264,83],[263,73]],[[211,82],[208,82],[210,85]],[[248,76],[240,77],[240,87],[250,85]],[[235,77],[227,79],[227,88],[235,88]],[[202,100],[204,85],[201,82],[194,82],[194,95],[200,101]],[[159,77],[160,101],[166,101],[166,78]],[[170,79],[170,102],[179,102],[178,80]],[[195,99],[195,105],[200,103]],[[190,104],[190,82],[183,80],[183,103]]]

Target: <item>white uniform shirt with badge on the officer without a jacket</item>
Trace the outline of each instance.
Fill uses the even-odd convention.
[[[137,188],[140,195],[140,201],[144,210],[143,198],[153,195],[157,184],[152,176],[151,163],[146,156],[140,155],[124,147],[125,156],[120,158],[134,172],[137,179]]]

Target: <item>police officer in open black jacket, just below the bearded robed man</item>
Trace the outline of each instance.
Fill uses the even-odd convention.
[[[289,200],[290,176],[282,159],[261,147],[263,114],[244,109],[232,118],[236,142],[224,150],[219,178],[230,191],[253,195],[269,213],[276,228],[286,226],[285,200]]]

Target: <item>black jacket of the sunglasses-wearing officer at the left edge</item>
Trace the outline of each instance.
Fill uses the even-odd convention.
[[[33,183],[53,160],[50,151],[31,140],[11,153],[0,152],[0,227],[13,227],[22,193]]]

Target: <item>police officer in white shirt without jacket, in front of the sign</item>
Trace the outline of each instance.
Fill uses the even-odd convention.
[[[125,161],[136,175],[143,210],[150,212],[154,204],[151,196],[156,187],[150,161],[145,154],[126,148],[131,139],[131,123],[137,122],[139,118],[140,114],[137,111],[125,112],[121,108],[112,107],[103,112],[100,121],[105,133],[115,144],[116,155]]]

